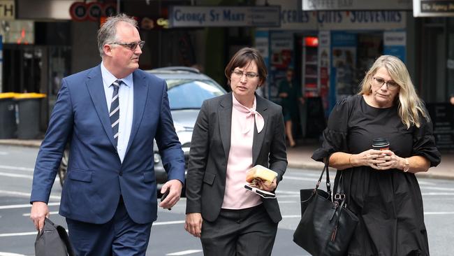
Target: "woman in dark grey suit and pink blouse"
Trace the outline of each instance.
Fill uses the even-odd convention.
[[[274,192],[287,167],[281,107],[255,92],[268,71],[254,48],[238,51],[225,69],[232,92],[206,100],[193,130],[186,178],[185,229],[200,238],[204,255],[271,255],[277,199],[244,189],[246,171],[260,164],[277,172]]]

